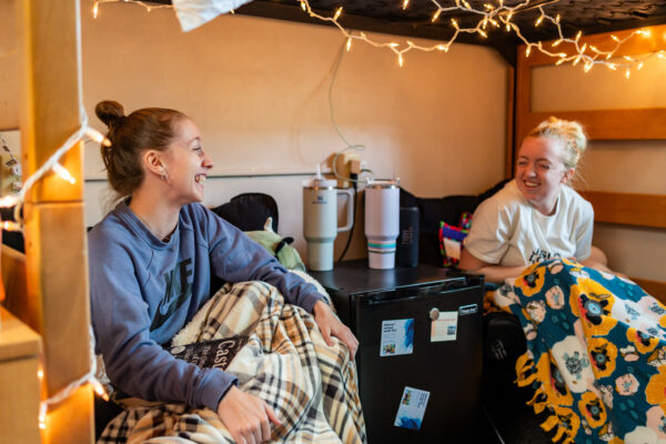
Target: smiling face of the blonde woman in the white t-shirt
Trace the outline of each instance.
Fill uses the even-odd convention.
[[[541,213],[555,212],[559,186],[575,170],[563,162],[564,145],[551,138],[527,138],[518,151],[516,185],[523,196]]]

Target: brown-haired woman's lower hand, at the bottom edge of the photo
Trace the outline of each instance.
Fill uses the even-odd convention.
[[[235,385],[218,404],[218,416],[238,444],[259,444],[271,440],[271,423],[280,425],[265,401],[243,393]]]

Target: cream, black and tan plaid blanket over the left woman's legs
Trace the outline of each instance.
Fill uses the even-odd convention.
[[[174,339],[173,345],[233,335],[250,340],[226,369],[239,387],[281,418],[272,441],[364,443],[356,371],[347,349],[330,347],[314,319],[263,282],[226,284]],[[182,404],[129,407],[99,443],[233,443],[216,413]]]

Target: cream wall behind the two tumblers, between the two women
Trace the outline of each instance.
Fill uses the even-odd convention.
[[[200,127],[220,175],[314,171],[345,147],[329,115],[331,72],[344,42],[336,29],[224,16],[182,33],[171,10],[110,3],[93,19],[90,2],[81,4],[83,97],[99,129],[100,100],[118,100],[127,112],[179,109]],[[362,158],[376,176],[400,176],[424,196],[477,193],[503,176],[506,78],[507,64],[487,48],[413,51],[401,69],[393,53],[357,43],[340,65],[333,107],[345,138],[366,145]],[[97,148],[84,165],[88,179],[104,176]],[[272,194],[280,232],[304,253],[305,176],[210,179],[205,203],[248,191]],[[105,183],[89,181],[88,224],[102,218],[105,200]],[[347,258],[364,254],[362,226]],[[337,251],[345,240],[339,236]]]

